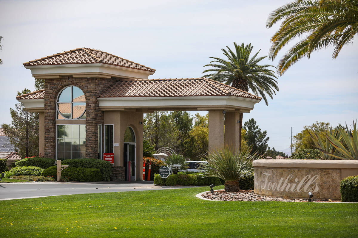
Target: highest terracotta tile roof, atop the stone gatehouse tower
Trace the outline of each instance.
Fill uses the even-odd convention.
[[[155,69],[151,69],[145,65],[141,65],[133,61],[123,59],[122,57],[118,57],[116,55],[112,55],[104,51],[89,49],[85,47],[49,55],[37,60],[31,60],[29,62],[23,63],[23,65],[68,65],[98,63],[155,72]]]

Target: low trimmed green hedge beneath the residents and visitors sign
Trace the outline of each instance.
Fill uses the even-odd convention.
[[[223,185],[223,182],[217,177],[207,177],[201,178],[197,174],[185,174],[179,172],[178,174],[170,174],[168,178],[161,178],[159,174],[154,175],[154,184],[155,185]]]

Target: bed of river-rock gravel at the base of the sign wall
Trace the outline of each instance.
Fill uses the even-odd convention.
[[[289,199],[289,198],[277,198],[277,197],[265,197],[258,195],[253,190],[240,190],[240,192],[224,192],[224,190],[214,191],[213,193],[206,192],[202,194],[203,198],[207,198],[215,201],[282,201],[282,202],[308,202],[308,199]],[[330,199],[329,199],[330,200]],[[334,202],[329,200],[312,199],[315,202]]]

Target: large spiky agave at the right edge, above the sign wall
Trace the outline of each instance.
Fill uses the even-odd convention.
[[[341,139],[337,138],[337,136],[334,137],[334,135],[330,133],[326,133],[327,140],[340,154],[336,155],[324,150],[322,150],[322,152],[338,159],[358,159],[357,120],[355,122],[353,121],[353,130],[350,127],[348,128],[347,123],[345,124],[345,128],[347,132],[342,128],[338,129],[342,137]]]

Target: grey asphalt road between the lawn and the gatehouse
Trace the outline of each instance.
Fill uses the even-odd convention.
[[[124,191],[146,191],[185,187],[160,187],[153,182],[41,182],[41,183],[0,183],[0,200],[47,197],[69,194],[106,193]]]

